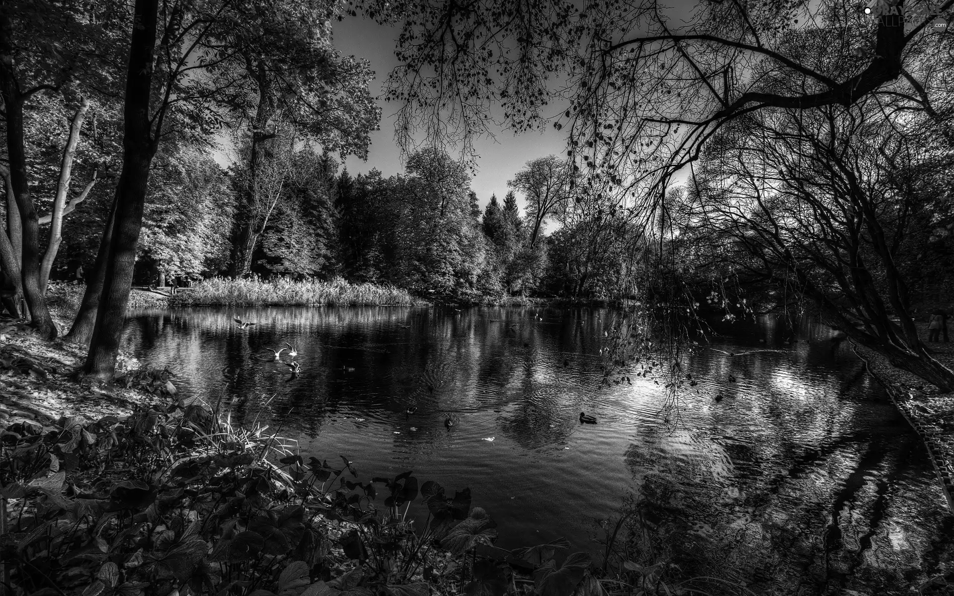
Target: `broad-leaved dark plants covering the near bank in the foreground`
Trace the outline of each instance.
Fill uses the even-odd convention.
[[[582,552],[558,565],[564,539],[496,548],[496,523],[471,507],[469,489],[450,496],[411,471],[362,483],[344,457],[305,461],[265,426],[170,399],[167,377],[130,375],[163,402],[123,420],[19,421],[0,433],[5,593],[707,593],[699,578],[670,582],[667,565],[625,560],[615,533],[602,569]],[[427,511],[421,528],[407,517],[415,501]]]

